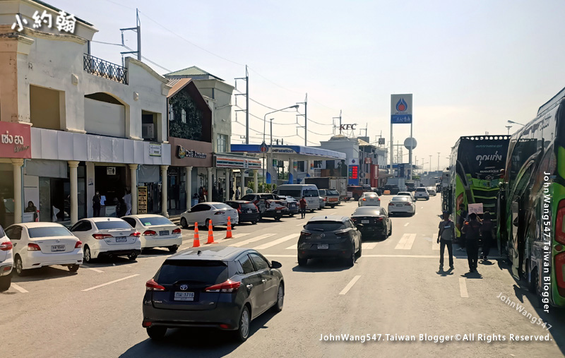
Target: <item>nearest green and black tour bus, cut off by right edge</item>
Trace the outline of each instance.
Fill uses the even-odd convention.
[[[511,137],[499,240],[540,306],[565,306],[565,88]]]

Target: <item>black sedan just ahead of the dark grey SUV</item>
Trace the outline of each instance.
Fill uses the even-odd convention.
[[[364,238],[381,237],[386,239],[393,233],[393,222],[382,206],[364,206],[355,209],[351,216]]]

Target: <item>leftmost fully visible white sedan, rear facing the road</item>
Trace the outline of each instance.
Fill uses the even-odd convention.
[[[13,245],[14,270],[64,265],[76,272],[83,263],[82,242],[56,222],[26,222],[6,229]]]

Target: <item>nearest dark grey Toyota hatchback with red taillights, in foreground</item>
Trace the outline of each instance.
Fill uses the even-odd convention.
[[[283,309],[285,280],[280,263],[253,249],[208,246],[170,256],[145,283],[143,323],[153,340],[167,328],[233,330],[245,341],[251,320]]]

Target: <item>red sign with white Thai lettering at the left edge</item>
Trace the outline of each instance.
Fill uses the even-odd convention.
[[[31,158],[30,126],[0,121],[0,157]]]

